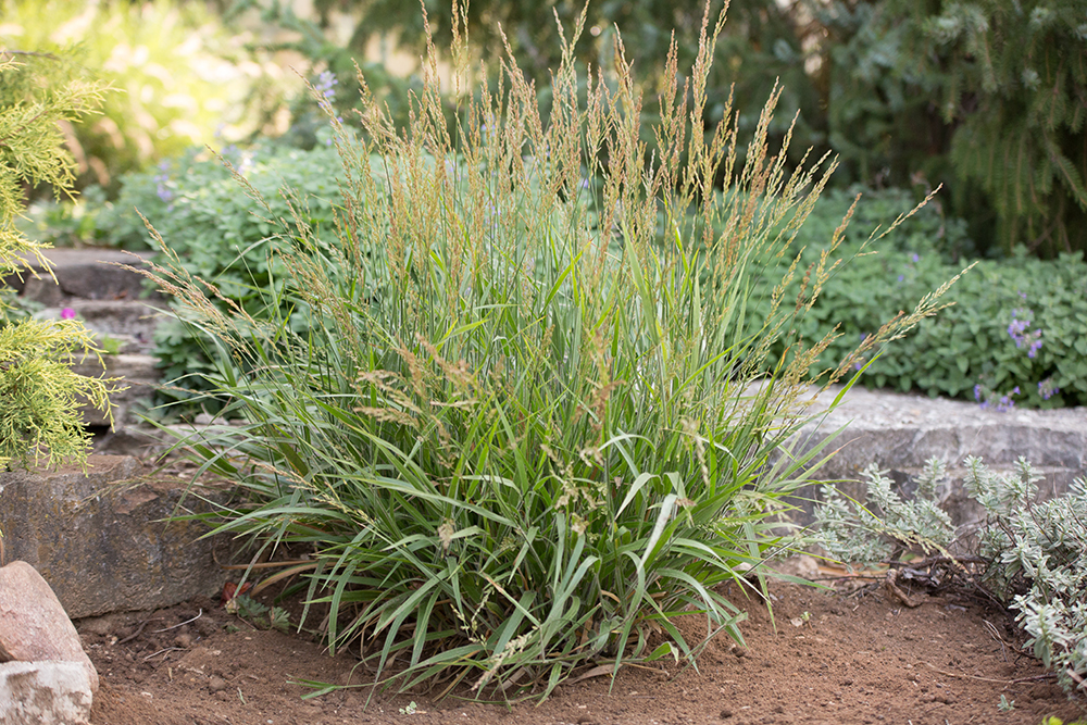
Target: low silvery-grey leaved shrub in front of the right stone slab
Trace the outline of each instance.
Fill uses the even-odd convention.
[[[1024,647],[1057,672],[1066,690],[1087,692],[1087,482],[1039,501],[1042,476],[1022,458],[1013,475],[994,473],[976,458],[963,465],[963,486],[985,511],[984,521],[957,528],[939,508],[944,462],[926,463],[909,502],[873,464],[864,472],[866,504],[824,487],[815,509],[819,542],[846,562],[890,562],[938,586],[982,590],[1019,612],[1028,635]],[[916,551],[933,555],[909,562],[907,554]]]

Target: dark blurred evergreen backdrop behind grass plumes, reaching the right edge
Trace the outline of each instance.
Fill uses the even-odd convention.
[[[442,42],[449,3],[425,4]],[[326,38],[310,42],[308,52],[330,59],[346,84],[345,54],[360,55],[375,36],[416,50],[424,37],[411,0],[318,0],[315,18],[261,0],[232,7],[262,7],[267,20],[293,27],[308,23],[309,37]],[[474,2],[467,18],[474,52],[503,54],[501,23],[546,107],[547,68],[561,52],[554,15],[569,28],[580,10],[575,0]],[[590,3],[589,34],[575,52],[607,65],[617,24],[634,73],[654,88],[655,59],[664,57],[672,28],[682,61],[691,60],[701,10],[660,0]],[[944,184],[944,203],[967,221],[982,252],[1023,243],[1054,257],[1087,248],[1087,21],[1077,0],[735,0],[728,14],[703,123],[720,120],[734,92],[732,108],[741,127],[752,129],[762,97],[780,79],[772,135],[780,139],[799,112],[794,153],[813,147],[839,154],[837,184],[897,186],[919,200]],[[328,41],[332,30],[347,40]],[[374,79],[382,86],[380,75]],[[354,98],[346,92],[345,104]]]

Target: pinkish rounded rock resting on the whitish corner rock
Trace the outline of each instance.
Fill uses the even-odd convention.
[[[0,568],[0,662],[77,662],[87,668],[90,689],[98,673],[53,590],[24,561]]]

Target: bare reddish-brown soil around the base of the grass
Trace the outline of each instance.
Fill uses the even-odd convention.
[[[348,653],[332,658],[305,635],[257,629],[217,600],[77,626],[101,677],[93,725],[1038,725],[1087,715],[1083,699],[1070,701],[1020,651],[1005,612],[927,595],[910,609],[882,589],[771,591],[773,621],[760,601],[732,591],[750,613],[747,647],[719,636],[698,671],[627,667],[614,686],[608,677],[567,684],[539,707],[435,701],[424,691],[377,692],[367,707],[367,688],[303,700],[313,690],[297,680],[357,684],[366,673]],[[692,637],[704,628],[704,620],[683,620]],[[1001,696],[1013,709],[1000,708]]]

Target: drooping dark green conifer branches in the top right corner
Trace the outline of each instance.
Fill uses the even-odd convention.
[[[1084,3],[938,5],[915,17],[911,57],[937,82],[955,175],[986,195],[1004,247],[1087,249]]]

